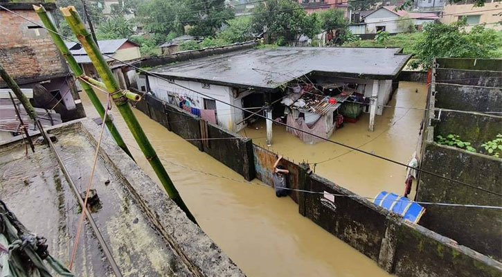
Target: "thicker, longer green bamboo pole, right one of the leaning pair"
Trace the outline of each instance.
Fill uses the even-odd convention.
[[[192,213],[190,213],[188,207],[183,202],[183,199],[181,199],[178,190],[174,187],[174,184],[172,184],[168,172],[165,171],[161,160],[150,144],[150,141],[148,141],[145,132],[143,132],[143,128],[141,128],[136,116],[134,116],[131,106],[125,96],[125,91],[120,89],[118,86],[118,82],[115,80],[113,73],[111,73],[111,70],[99,51],[96,42],[94,42],[91,34],[89,34],[82,23],[82,19],[80,19],[80,15],[78,15],[77,10],[75,10],[75,7],[73,6],[60,8],[60,10],[62,11],[66,21],[68,21],[71,30],[73,30],[73,33],[75,33],[80,41],[80,44],[84,47],[87,55],[89,55],[94,67],[96,67],[96,71],[98,71],[103,83],[105,83],[107,91],[111,93],[111,98],[113,98],[118,111],[120,111],[120,114],[123,116],[125,123],[138,143],[139,148],[141,148],[141,151],[145,155],[146,159],[150,162],[150,166],[152,166],[155,174],[159,177],[165,191],[168,193],[169,197],[186,213],[188,218],[190,218],[192,222],[197,223],[195,221],[195,217],[193,217]],[[131,93],[129,93],[129,95],[130,94]]]

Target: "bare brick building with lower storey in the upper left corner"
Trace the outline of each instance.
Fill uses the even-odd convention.
[[[54,3],[42,0],[0,3],[40,25],[42,21],[33,4],[44,6],[49,12],[56,9]],[[35,107],[54,109],[63,121],[82,118],[85,112],[73,76],[48,32],[37,24],[0,10],[0,63],[19,87],[33,91]],[[6,87],[0,78],[0,89]]]

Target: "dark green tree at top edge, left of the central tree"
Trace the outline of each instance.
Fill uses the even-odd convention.
[[[186,0],[186,8],[188,12],[183,17],[186,18],[185,23],[192,26],[188,33],[196,37],[215,35],[235,15],[225,0]]]

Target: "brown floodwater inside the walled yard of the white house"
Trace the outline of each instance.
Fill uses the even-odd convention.
[[[418,93],[415,89],[418,89]],[[419,150],[419,129],[426,99],[427,86],[424,83],[400,82],[399,89],[388,105],[406,109],[385,107],[382,116],[375,116],[374,132],[368,131],[369,114],[362,114],[357,123],[345,123],[343,128],[333,132],[330,139],[407,164],[413,152]],[[269,150],[296,162],[307,161],[311,163],[311,168],[317,163],[317,175],[354,193],[366,197],[375,197],[382,190],[398,195],[404,193],[406,168],[403,166],[330,142],[307,145],[280,125],[274,125],[273,133],[274,139]],[[253,139],[253,143],[267,148],[264,121],[258,121],[240,134],[261,138]],[[411,197],[414,195],[415,185]]]

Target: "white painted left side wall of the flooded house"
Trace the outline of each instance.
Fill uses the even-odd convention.
[[[196,107],[198,109],[204,109],[204,96],[188,89],[183,89],[175,84],[180,84],[183,87],[199,91],[210,97],[216,98],[217,100],[233,104],[236,107],[242,107],[242,98],[251,93],[241,93],[238,98],[233,98],[231,87],[210,84],[209,89],[206,89],[203,88],[203,85],[200,82],[172,80],[175,84],[171,84],[170,82],[161,80],[154,76],[149,76],[148,80],[150,81],[150,91],[152,91],[157,98],[172,104],[172,102],[170,102],[170,100],[172,100],[170,96],[172,96],[174,97],[174,105],[177,105],[180,101],[180,96],[183,96],[183,99],[190,101],[191,107]],[[217,124],[230,131],[239,132],[240,129],[246,126],[244,123],[236,125],[236,123],[243,119],[243,111],[230,107],[223,102],[216,101]]]

